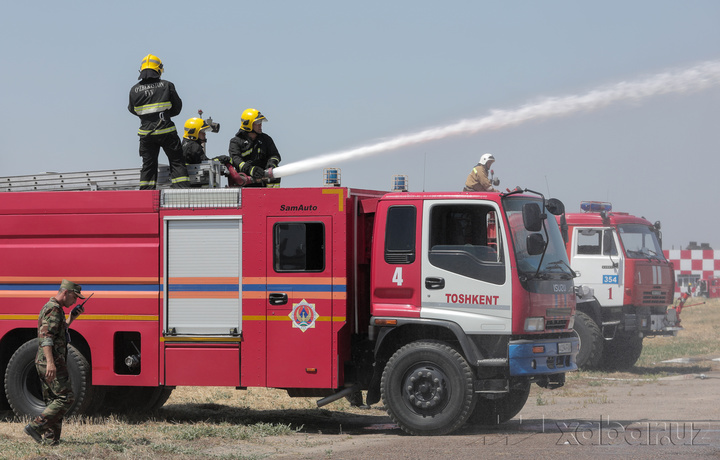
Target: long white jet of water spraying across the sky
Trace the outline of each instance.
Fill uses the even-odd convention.
[[[318,168],[335,166],[343,161],[360,159],[388,150],[450,136],[474,134],[480,131],[518,125],[540,118],[597,110],[613,102],[638,101],[651,96],[669,93],[700,91],[717,84],[720,84],[720,61],[708,61],[689,69],[661,73],[644,80],[620,82],[592,90],[583,95],[551,97],[537,103],[526,104],[514,110],[491,110],[490,115],[486,117],[460,120],[455,124],[442,128],[426,129],[364,147],[308,158],[275,168],[273,176],[285,177]]]

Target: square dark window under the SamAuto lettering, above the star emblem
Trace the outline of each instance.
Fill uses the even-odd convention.
[[[280,222],[273,227],[276,272],[321,272],[325,268],[322,222]]]

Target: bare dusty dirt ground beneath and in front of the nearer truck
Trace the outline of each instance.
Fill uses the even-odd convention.
[[[381,407],[366,415],[332,411],[267,443],[215,446],[270,458],[720,457],[720,363],[704,360],[660,379],[582,377],[550,391],[534,386],[525,408],[494,429],[467,426],[451,436],[414,437]],[[681,369],[678,369],[681,371]],[[297,423],[297,420],[295,421]]]

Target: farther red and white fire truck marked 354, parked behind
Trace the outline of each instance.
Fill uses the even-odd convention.
[[[578,366],[621,370],[642,353],[643,337],[677,335],[675,275],[660,243],[660,223],[612,211],[605,202],[582,202],[567,213],[567,253],[577,287],[594,290],[578,301]]]

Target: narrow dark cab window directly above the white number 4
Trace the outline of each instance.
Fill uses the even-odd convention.
[[[415,262],[415,206],[391,206],[385,226],[385,262]]]

